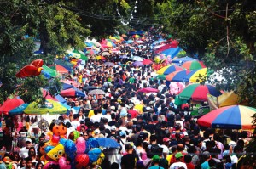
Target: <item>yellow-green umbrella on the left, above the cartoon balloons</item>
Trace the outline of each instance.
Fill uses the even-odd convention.
[[[64,107],[59,102],[56,102],[51,99],[46,99],[45,107],[38,104],[37,102],[32,102],[31,104],[28,104],[24,112],[27,115],[44,115],[44,114],[57,115],[57,114],[66,113],[67,108]]]

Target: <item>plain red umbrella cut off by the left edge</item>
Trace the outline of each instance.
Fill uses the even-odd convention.
[[[7,99],[0,107],[0,112],[4,115],[8,115],[10,110],[14,110],[16,107],[24,104],[24,101],[20,98]]]

